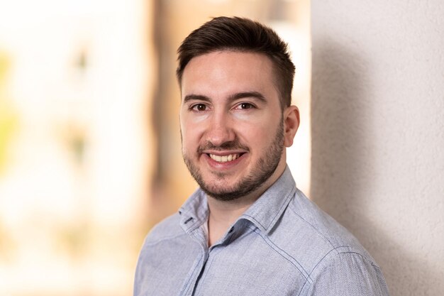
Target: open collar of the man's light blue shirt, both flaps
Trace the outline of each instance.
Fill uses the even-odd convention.
[[[296,191],[292,172],[288,166],[276,182],[273,183],[233,225],[241,220],[248,220],[266,234],[273,229],[290,199]],[[199,188],[179,209],[179,224],[185,232],[190,233],[206,223],[209,216],[206,194]]]

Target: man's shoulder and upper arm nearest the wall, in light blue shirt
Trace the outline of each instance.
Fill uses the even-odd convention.
[[[307,295],[389,295],[372,256],[302,192],[281,219],[271,239],[305,270]]]

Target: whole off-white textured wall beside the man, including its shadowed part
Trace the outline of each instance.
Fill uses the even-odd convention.
[[[311,5],[311,198],[392,296],[444,295],[444,1]]]

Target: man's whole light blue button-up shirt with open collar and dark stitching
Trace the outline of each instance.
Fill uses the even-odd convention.
[[[208,214],[197,190],[150,231],[135,296],[389,295],[372,257],[297,190],[288,168],[211,248]]]

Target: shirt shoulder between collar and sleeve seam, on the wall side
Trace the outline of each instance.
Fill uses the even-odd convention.
[[[296,190],[280,223],[270,239],[311,274],[328,258],[347,256],[362,258],[374,265],[373,258],[353,234],[319,209],[302,192]]]

